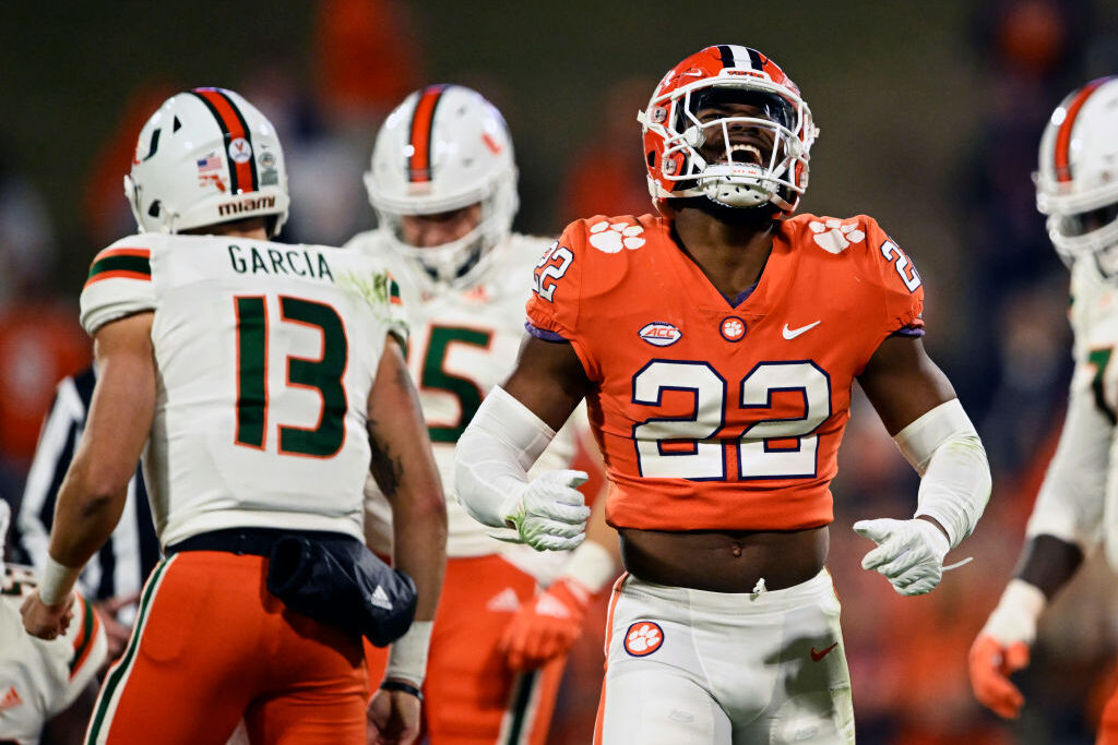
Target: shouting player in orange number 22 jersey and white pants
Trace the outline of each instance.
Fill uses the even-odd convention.
[[[684,59],[638,117],[659,216],[568,226],[536,269],[529,337],[458,442],[481,522],[582,539],[569,471],[530,465],[584,398],[627,570],[599,743],[854,742],[828,490],[858,380],[922,480],[911,519],[855,524],[862,562],[931,591],[991,477],[925,353],[920,276],[866,216],[793,217],[817,130],[760,52]]]

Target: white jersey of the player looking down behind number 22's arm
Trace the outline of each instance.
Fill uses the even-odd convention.
[[[419,391],[446,490],[447,555],[503,553],[537,576],[546,573],[537,566],[539,560],[525,565],[520,558],[538,552],[520,552],[495,541],[490,536],[494,528],[472,518],[454,497],[454,448],[482,398],[504,381],[515,365],[524,337],[524,304],[532,270],[550,245],[547,238],[510,236],[485,257],[486,269],[465,289],[436,287],[415,262],[394,252],[380,231],[360,233],[345,246],[385,260],[400,280],[411,328],[408,367]],[[533,472],[565,468],[570,462],[576,450],[576,422],[580,418],[585,421],[581,407],[540,456]],[[391,513],[371,479],[367,497],[370,545],[387,553],[391,546]]]

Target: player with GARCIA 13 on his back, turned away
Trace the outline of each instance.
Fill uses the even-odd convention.
[[[367,704],[378,742],[411,742],[446,515],[396,283],[356,251],[269,240],[283,152],[230,90],[169,98],[125,193],[140,233],[96,256],[82,293],[97,382],[25,628],[66,630],[142,455],[165,558],[87,742],[224,743],[244,717],[256,743],[364,743]],[[363,546],[370,468],[402,574]],[[411,611],[370,703],[361,636],[386,643]]]

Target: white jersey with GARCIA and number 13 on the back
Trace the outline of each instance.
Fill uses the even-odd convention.
[[[94,259],[91,334],[153,311],[157,400],[144,451],[165,547],[257,526],[362,536],[369,391],[396,283],[369,257],[221,236],[132,236]]]

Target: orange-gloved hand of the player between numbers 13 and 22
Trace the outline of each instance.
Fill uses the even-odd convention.
[[[563,655],[582,633],[590,591],[565,577],[525,603],[501,637],[513,670],[530,670]]]

